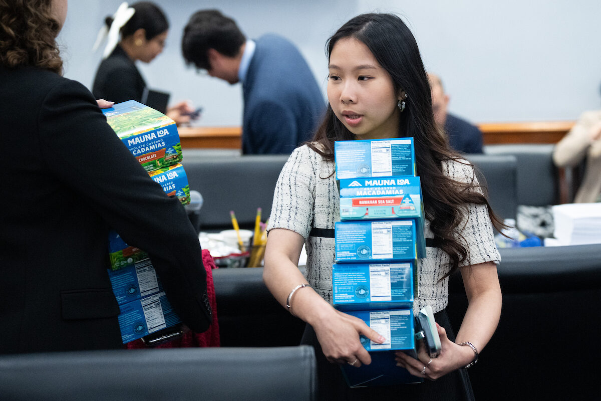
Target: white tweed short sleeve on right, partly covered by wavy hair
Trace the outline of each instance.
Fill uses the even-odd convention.
[[[450,161],[445,165],[448,176],[463,183],[473,183],[476,191],[482,193],[474,167],[466,161]],[[462,266],[477,265],[484,262],[501,261],[501,255],[495,245],[492,222],[486,205],[467,204],[462,221],[457,226],[457,239],[468,249],[468,257]]]

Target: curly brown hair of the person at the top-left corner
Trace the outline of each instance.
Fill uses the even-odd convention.
[[[63,73],[52,0],[0,0],[0,65],[35,66]]]

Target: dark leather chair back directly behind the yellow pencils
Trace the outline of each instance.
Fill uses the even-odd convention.
[[[230,210],[240,228],[254,228],[257,207],[269,216],[273,191],[289,155],[207,155],[185,150],[182,165],[190,189],[203,195],[199,220],[202,230],[231,227]]]

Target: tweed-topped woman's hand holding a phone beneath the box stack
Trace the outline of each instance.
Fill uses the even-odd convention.
[[[436,328],[441,337],[441,353],[438,357],[430,358],[423,341],[420,341],[417,359],[409,357],[402,351],[395,352],[397,366],[404,367],[411,375],[418,378],[436,380],[474,360],[474,352],[470,347],[460,346],[449,340],[447,331],[438,323]]]

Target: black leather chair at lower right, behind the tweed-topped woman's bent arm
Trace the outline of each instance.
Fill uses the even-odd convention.
[[[468,370],[476,399],[596,399],[601,244],[500,252],[501,320]],[[466,304],[460,275],[452,275],[447,310],[455,330]]]

